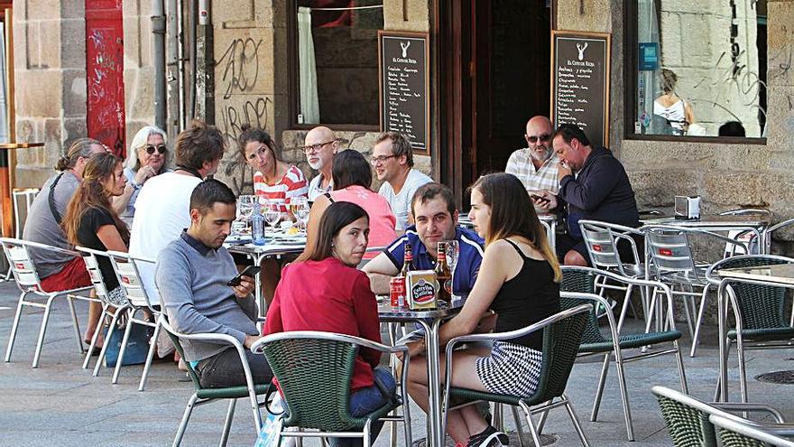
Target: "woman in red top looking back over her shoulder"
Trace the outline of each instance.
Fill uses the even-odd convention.
[[[369,218],[364,209],[345,201],[328,206],[314,242],[284,268],[268,308],[264,334],[328,331],[380,343],[377,302],[369,278],[355,268],[364,256],[368,236]],[[358,351],[350,383],[349,408],[354,416],[372,413],[394,396],[394,377],[388,369],[378,367],[380,359],[374,349]],[[383,423],[372,425],[373,440],[382,426]],[[334,445],[362,442],[332,439]]]

